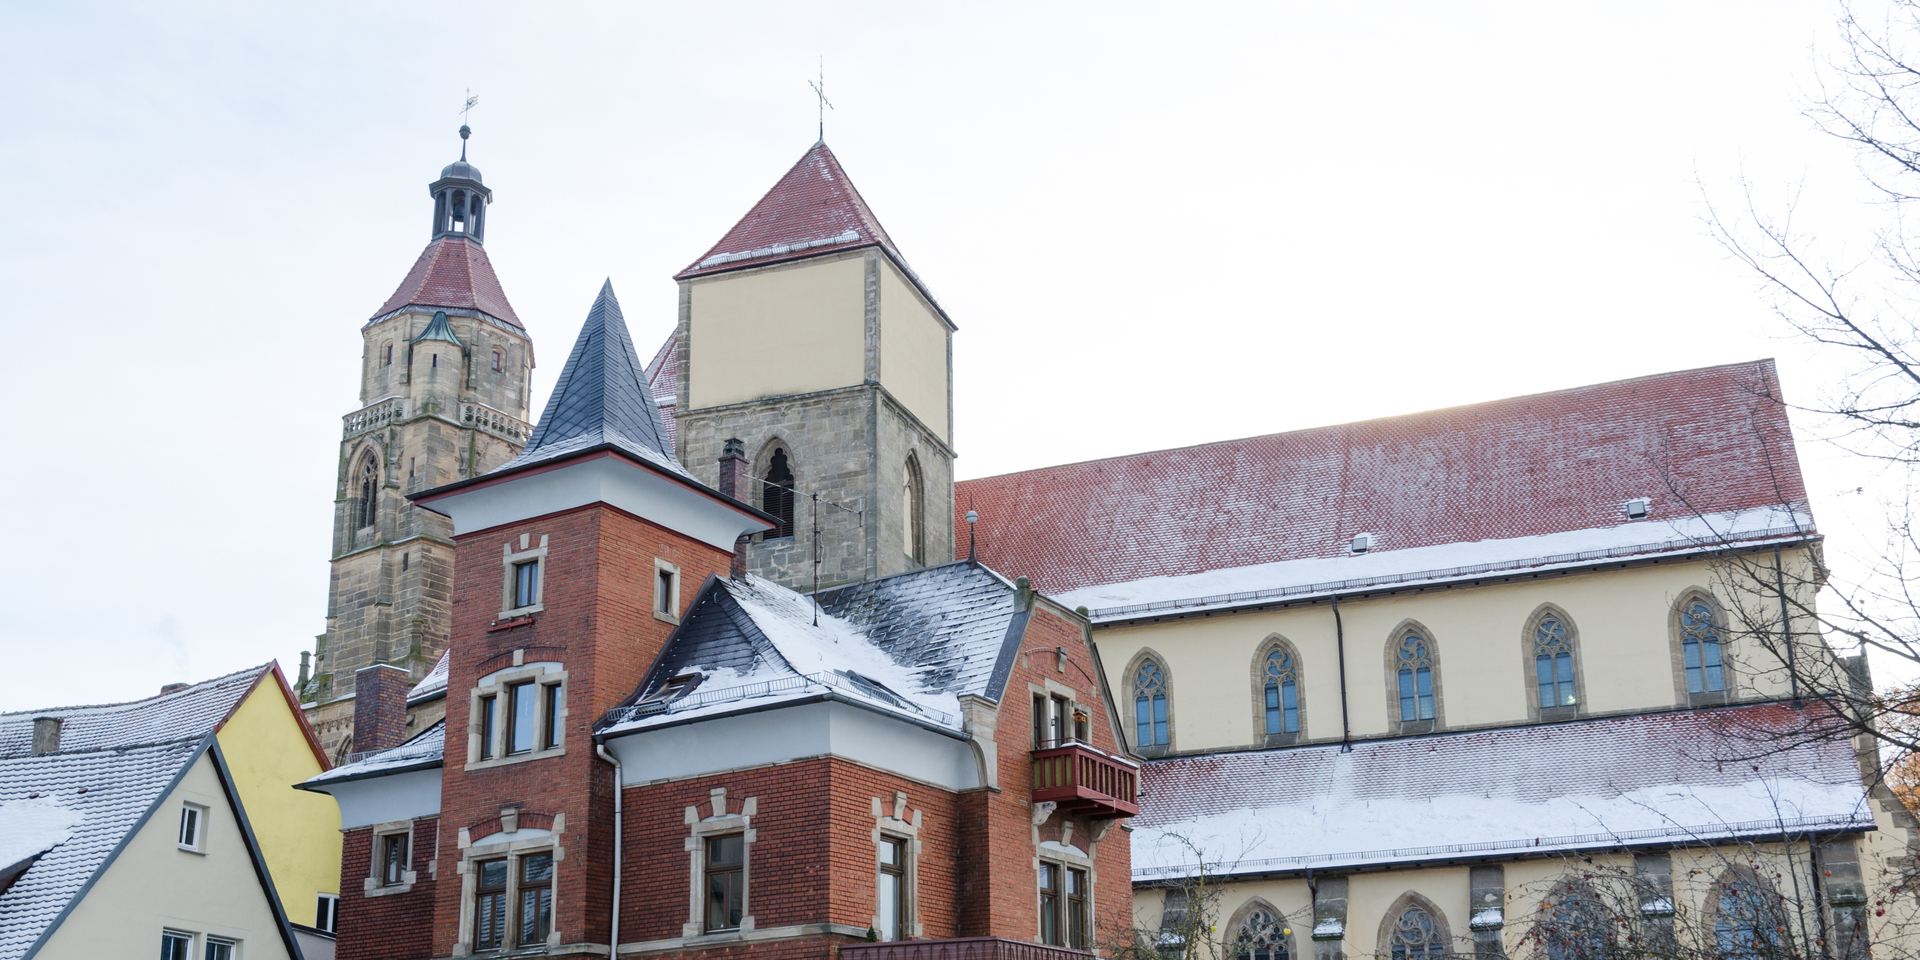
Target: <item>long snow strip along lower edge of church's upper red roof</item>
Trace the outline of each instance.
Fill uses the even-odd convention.
[[[1540,570],[1546,566],[1582,566],[1594,561],[1693,553],[1728,541],[1803,540],[1807,534],[1812,534],[1811,516],[1782,507],[1759,507],[1713,516],[1634,520],[1530,538],[1369,549],[1346,557],[1302,557],[1188,576],[1148,576],[1071,589],[1054,599],[1068,607],[1089,607],[1094,622],[1125,620],[1380,586],[1471,580],[1523,568]]]

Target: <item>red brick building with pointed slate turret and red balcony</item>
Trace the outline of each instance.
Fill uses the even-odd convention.
[[[305,783],[348,833],[338,956],[1125,937],[1137,764],[1087,622],[973,561],[749,576],[737,444],[720,490],[672,449],[609,286],[524,453],[415,495],[455,530],[447,714]]]

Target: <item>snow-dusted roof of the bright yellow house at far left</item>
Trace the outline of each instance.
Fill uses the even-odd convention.
[[[4,712],[0,714],[0,758],[25,756],[33,751],[33,720],[38,716],[61,720],[61,753],[200,739],[213,733],[232,714],[269,668],[273,668],[271,662],[250,666],[144,701]]]

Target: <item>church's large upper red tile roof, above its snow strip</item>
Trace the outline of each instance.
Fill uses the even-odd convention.
[[[966,480],[981,563],[1046,593],[1803,505],[1772,361]],[[956,553],[966,555],[966,538]]]

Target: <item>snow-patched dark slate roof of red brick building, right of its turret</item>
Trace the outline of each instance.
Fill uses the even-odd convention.
[[[851,584],[812,599],[760,578],[710,580],[603,732],[632,732],[768,703],[835,697],[960,732],[960,695],[998,699],[1025,626],[1016,589],[977,563]],[[701,674],[672,703],[643,703]]]

